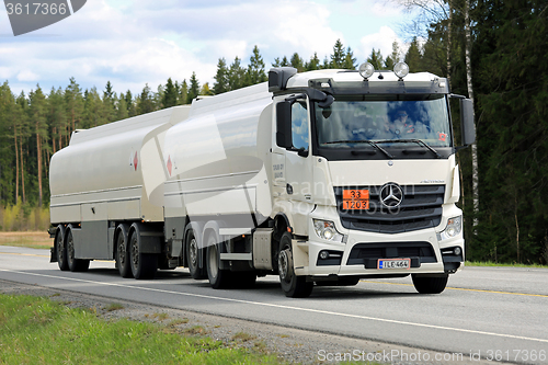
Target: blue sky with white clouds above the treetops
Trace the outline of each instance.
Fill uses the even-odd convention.
[[[213,84],[219,57],[247,65],[254,45],[266,68],[297,52],[323,59],[340,38],[358,62],[372,48],[384,56],[409,20],[395,2],[377,0],[90,0],[71,16],[14,37],[0,8],[0,81],[14,93],[65,88],[73,77],[83,88],[116,92],[152,90],[193,71]]]

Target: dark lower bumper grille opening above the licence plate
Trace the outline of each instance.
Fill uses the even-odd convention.
[[[378,259],[411,259],[412,263],[437,262],[429,242],[357,243],[350,252],[347,265],[365,264],[376,267]],[[418,267],[412,265],[413,267]]]

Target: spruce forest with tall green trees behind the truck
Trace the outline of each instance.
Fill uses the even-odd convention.
[[[356,69],[363,61],[391,69],[406,61],[411,72],[449,79],[453,93],[473,99],[477,142],[460,150],[466,256],[471,261],[548,263],[548,2],[546,0],[395,0],[419,9],[407,52],[395,43],[390,55],[372,49],[356,59],[338,41],[331,55],[281,55],[272,66],[299,71]],[[213,85],[196,75],[176,76],[156,90],[134,95],[67,85],[15,95],[0,85],[0,230],[43,230],[48,225],[48,167],[76,129],[90,128],[266,81],[255,46],[249,60],[220,58]],[[454,116],[454,121],[458,121]],[[458,123],[455,123],[456,142]]]

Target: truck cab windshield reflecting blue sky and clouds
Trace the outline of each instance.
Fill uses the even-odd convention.
[[[355,148],[363,141],[393,141],[400,145],[409,139],[410,144],[420,140],[430,147],[450,147],[445,96],[411,98],[413,99],[387,101],[386,95],[384,100],[379,100],[379,96],[336,96],[331,106],[316,109],[319,146]]]

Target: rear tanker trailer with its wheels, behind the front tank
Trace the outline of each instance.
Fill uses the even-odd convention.
[[[52,262],[85,271],[90,260],[116,260],[124,277],[152,277],[168,260],[163,244],[165,130],[190,106],[76,130],[52,157],[49,170]]]

